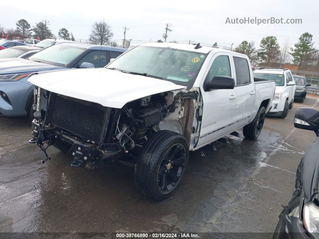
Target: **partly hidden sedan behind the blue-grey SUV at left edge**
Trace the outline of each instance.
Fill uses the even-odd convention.
[[[30,47],[30,46],[19,46],[19,47],[11,47],[6,48],[2,51],[0,51],[0,59],[2,58],[28,58],[29,56],[32,56],[34,53],[42,50],[42,48],[39,47]]]

